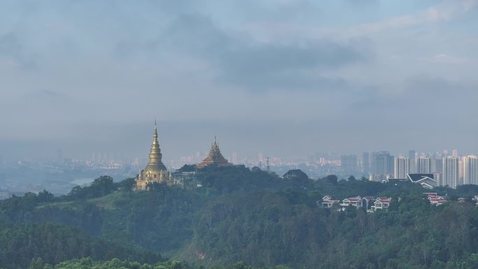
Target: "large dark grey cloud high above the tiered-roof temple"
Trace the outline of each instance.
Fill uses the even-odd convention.
[[[282,45],[258,43],[247,37],[219,29],[207,17],[183,15],[171,24],[163,40],[171,48],[210,61],[219,71],[219,81],[248,89],[342,87],[343,79],[328,79],[320,71],[371,59],[370,43],[361,39]]]

